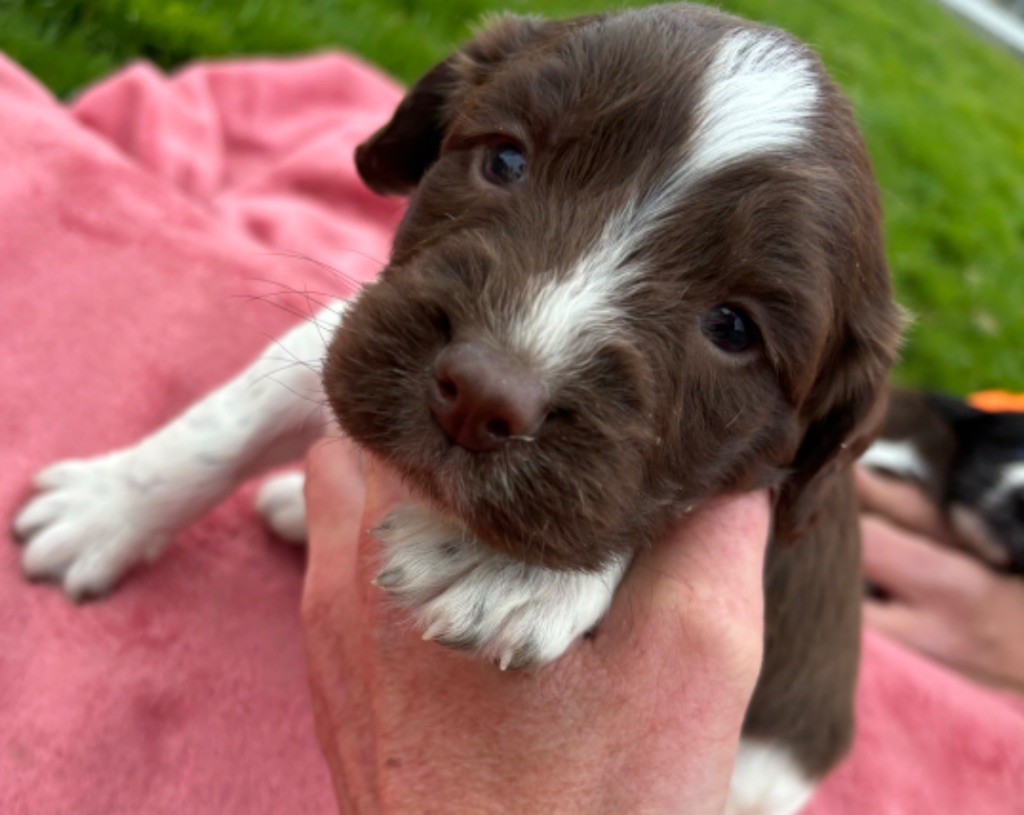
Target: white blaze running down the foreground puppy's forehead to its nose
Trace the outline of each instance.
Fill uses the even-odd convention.
[[[691,135],[678,165],[605,222],[600,238],[564,275],[527,293],[508,342],[548,371],[586,359],[614,331],[621,303],[640,277],[631,260],[693,186],[743,161],[800,146],[819,84],[807,52],[777,32],[726,35],[703,76]]]

